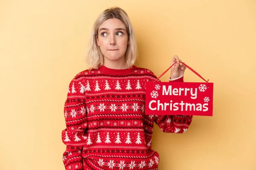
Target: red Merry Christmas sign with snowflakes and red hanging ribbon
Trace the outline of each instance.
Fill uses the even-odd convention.
[[[147,82],[145,114],[212,116],[213,83],[208,81]]]

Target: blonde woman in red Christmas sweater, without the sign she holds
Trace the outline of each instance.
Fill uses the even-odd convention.
[[[67,170],[157,170],[151,149],[154,122],[163,132],[184,133],[192,116],[145,115],[145,85],[157,77],[134,65],[137,44],[121,8],[102,12],[93,25],[89,69],[70,82],[62,141]],[[186,69],[174,56],[169,81],[183,82]],[[159,80],[157,80],[159,81]]]

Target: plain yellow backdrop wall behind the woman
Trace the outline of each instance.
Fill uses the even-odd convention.
[[[214,82],[212,117],[184,134],[155,126],[159,170],[256,170],[255,0],[0,0],[0,169],[64,170],[67,87],[111,6],[134,26],[137,66],[159,76],[177,55]],[[189,69],[184,79],[203,82]]]

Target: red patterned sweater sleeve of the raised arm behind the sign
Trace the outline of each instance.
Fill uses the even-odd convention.
[[[160,82],[160,80],[158,79]],[[169,82],[183,82],[183,76]],[[154,122],[165,133],[184,133],[192,122],[192,115],[155,115]]]

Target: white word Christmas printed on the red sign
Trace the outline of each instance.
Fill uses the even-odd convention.
[[[153,103],[157,105],[153,105]],[[149,102],[149,109],[151,111],[166,111],[167,107],[169,108],[170,111],[177,111],[180,108],[180,111],[183,111],[185,108],[185,111],[208,111],[208,103],[204,103],[203,105],[201,103],[184,103],[181,101],[180,103],[172,103],[172,100],[170,103],[160,103],[160,100],[152,100]]]

